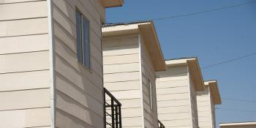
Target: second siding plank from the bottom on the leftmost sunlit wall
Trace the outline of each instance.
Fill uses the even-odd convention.
[[[49,107],[50,89],[0,92],[0,101],[0,110]]]

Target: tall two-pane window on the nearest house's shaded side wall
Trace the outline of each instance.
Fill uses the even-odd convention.
[[[90,69],[90,22],[79,11],[76,12],[76,32],[77,32],[77,57],[78,62]]]

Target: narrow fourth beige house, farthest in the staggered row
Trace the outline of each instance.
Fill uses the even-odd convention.
[[[215,105],[222,103],[219,95],[217,80],[204,82],[205,90],[197,91],[197,112],[198,123],[200,128],[215,128]]]

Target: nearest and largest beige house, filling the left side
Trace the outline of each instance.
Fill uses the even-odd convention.
[[[1,128],[105,127],[101,25],[121,5],[0,1]]]

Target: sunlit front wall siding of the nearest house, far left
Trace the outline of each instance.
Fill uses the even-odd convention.
[[[0,12],[0,127],[50,127],[47,1],[0,1]]]

